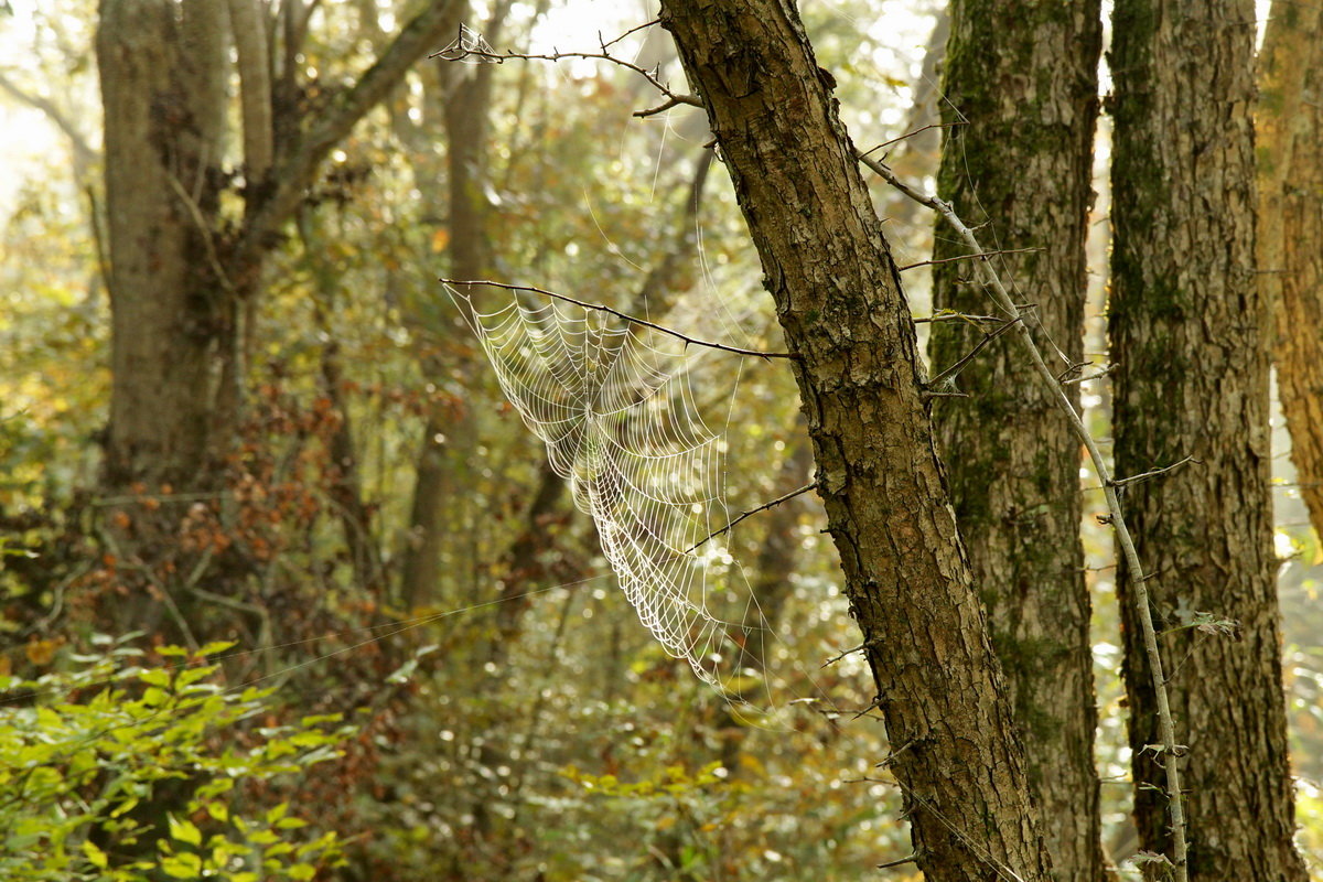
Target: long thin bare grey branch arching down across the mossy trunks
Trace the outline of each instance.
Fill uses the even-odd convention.
[[[864,165],[871,168],[901,193],[941,214],[951,229],[954,229],[957,234],[964,239],[964,243],[972,251],[983,253],[983,247],[979,245],[978,237],[975,237],[974,231],[966,226],[949,202],[914,189],[909,184],[897,179],[892,169],[886,168],[886,165],[875,159],[869,159],[863,153],[859,153],[857,157]],[[992,271],[990,263],[987,261],[978,261],[974,266],[975,271],[982,274],[983,282],[986,283],[998,307],[1005,309],[1008,315],[1016,319],[1021,317],[1019,307],[1016,307],[1015,300],[1007,292],[1005,286],[1002,284],[1002,279],[998,274]],[[1076,413],[1074,405],[1070,403],[1070,399],[1066,397],[1061,383],[1057,382],[1052,369],[1048,368],[1046,362],[1043,360],[1043,353],[1039,352],[1039,346],[1033,342],[1033,337],[1024,321],[1016,321],[1015,328],[1020,341],[1024,344],[1024,349],[1028,353],[1029,360],[1033,362],[1035,370],[1037,370],[1039,376],[1052,390],[1057,406],[1066,415],[1072,430],[1089,451],[1089,459],[1093,460],[1094,472],[1098,475],[1103,485],[1103,493],[1107,497],[1107,509],[1110,510],[1110,517],[1107,520],[1117,532],[1117,542],[1121,545],[1126,566],[1131,573],[1131,581],[1134,582],[1134,595],[1131,599],[1139,616],[1144,651],[1148,656],[1148,673],[1158,703],[1158,729],[1163,743],[1162,764],[1167,776],[1167,809],[1171,815],[1172,865],[1175,867],[1176,882],[1187,882],[1189,878],[1189,869],[1188,849],[1185,844],[1185,797],[1180,789],[1180,758],[1177,754],[1176,726],[1171,714],[1171,702],[1167,697],[1167,678],[1163,676],[1162,653],[1158,649],[1158,633],[1154,628],[1152,612],[1148,604],[1148,587],[1146,584],[1147,577],[1144,575],[1143,565],[1139,562],[1139,553],[1135,550],[1135,541],[1130,536],[1130,528],[1126,525],[1125,514],[1121,510],[1121,499],[1117,495],[1117,485],[1111,480],[1111,475],[1107,471],[1107,463],[1102,458],[1102,451],[1098,450],[1097,442],[1089,432],[1089,428],[1084,424],[1080,414]]]

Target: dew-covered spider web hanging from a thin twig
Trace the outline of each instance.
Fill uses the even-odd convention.
[[[726,690],[761,680],[766,623],[722,541],[725,442],[695,398],[685,342],[598,309],[446,286],[511,405],[546,446],[640,621]]]

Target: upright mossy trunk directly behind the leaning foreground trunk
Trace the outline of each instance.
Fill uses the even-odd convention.
[[[1065,373],[1084,360],[1085,238],[1098,115],[1098,0],[957,0],[945,61],[947,128],[938,193],[970,223],[990,223],[995,258],[1035,304],[1033,335]],[[960,123],[967,124],[960,124]],[[939,227],[937,259],[966,254]],[[933,305],[987,315],[967,262],[934,267]],[[991,327],[934,323],[937,373]],[[959,374],[970,398],[943,398],[934,423],[951,501],[987,604],[1025,738],[1056,878],[1106,875],[1093,764],[1097,713],[1089,591],[1080,545],[1080,440],[1011,335]],[[1078,383],[1065,386],[1078,409]]]

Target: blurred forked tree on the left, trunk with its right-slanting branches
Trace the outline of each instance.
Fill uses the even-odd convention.
[[[314,4],[315,5],[315,4]],[[315,114],[302,67],[312,7],[282,4],[284,75],[267,77],[270,21],[254,0],[102,0],[97,56],[106,120],[111,292],[103,484],[205,487],[242,401],[243,344],[266,257],[321,161],[409,67],[441,46],[458,4],[425,4],[361,77]],[[242,89],[242,223],[225,132],[230,28]],[[279,112],[277,112],[279,111]]]

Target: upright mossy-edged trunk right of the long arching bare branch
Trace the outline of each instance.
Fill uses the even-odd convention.
[[[1303,881],[1293,837],[1269,495],[1270,316],[1254,272],[1254,4],[1115,7],[1115,473],[1188,739],[1189,878]],[[1118,578],[1142,848],[1168,852],[1155,698]],[[1204,614],[1234,636],[1199,627]],[[1162,625],[1160,625],[1162,627]]]

